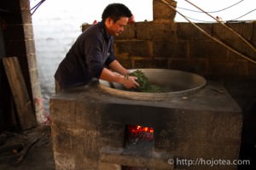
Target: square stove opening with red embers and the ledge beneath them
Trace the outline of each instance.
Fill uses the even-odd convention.
[[[148,157],[154,149],[154,128],[140,125],[126,125],[124,154]],[[147,167],[122,166],[122,170],[148,170]]]

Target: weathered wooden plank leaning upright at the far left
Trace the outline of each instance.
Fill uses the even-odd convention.
[[[37,119],[32,109],[32,102],[27,93],[26,83],[21,73],[19,60],[16,57],[3,58],[3,66],[15,100],[20,127],[23,130],[36,127]]]

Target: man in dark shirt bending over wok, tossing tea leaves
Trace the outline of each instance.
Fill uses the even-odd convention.
[[[132,20],[131,11],[124,4],[109,4],[102,21],[85,30],[61,61],[55,72],[57,85],[61,89],[73,88],[100,78],[121,83],[125,88],[137,88],[137,77],[128,76],[129,71],[113,56],[113,36],[119,36]]]

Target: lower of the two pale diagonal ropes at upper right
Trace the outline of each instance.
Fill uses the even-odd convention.
[[[193,26],[195,26],[195,28],[197,28],[199,31],[201,31],[202,33],[204,33],[207,37],[210,37],[213,41],[218,42],[219,44],[221,44],[222,46],[224,46],[225,48],[230,49],[230,51],[232,51],[235,54],[238,54],[239,56],[241,56],[243,59],[247,59],[248,61],[251,61],[253,64],[256,64],[256,61],[253,59],[250,59],[249,57],[247,57],[244,54],[241,54],[240,52],[238,52],[236,49],[230,48],[230,46],[226,45],[224,42],[219,41],[217,38],[212,37],[210,34],[208,34],[206,31],[204,31],[203,29],[201,29],[200,26],[196,26],[194,22],[191,22],[186,16],[184,16],[183,14],[181,14],[180,12],[177,11],[176,8],[172,7],[172,5],[170,5],[169,3],[167,3],[165,0],[160,0],[162,3],[165,3],[168,7],[172,8],[174,11],[177,12],[177,14],[180,14],[185,20],[188,20],[188,22],[190,24],[192,24]]]

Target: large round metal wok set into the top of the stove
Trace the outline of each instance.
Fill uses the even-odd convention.
[[[137,70],[137,69],[136,69]],[[131,71],[136,71],[131,70]],[[153,84],[165,89],[165,93],[132,92],[122,84],[100,80],[99,87],[109,94],[114,94],[130,99],[159,100],[177,94],[189,94],[203,88],[207,81],[204,77],[186,71],[167,69],[138,69],[148,77]]]

